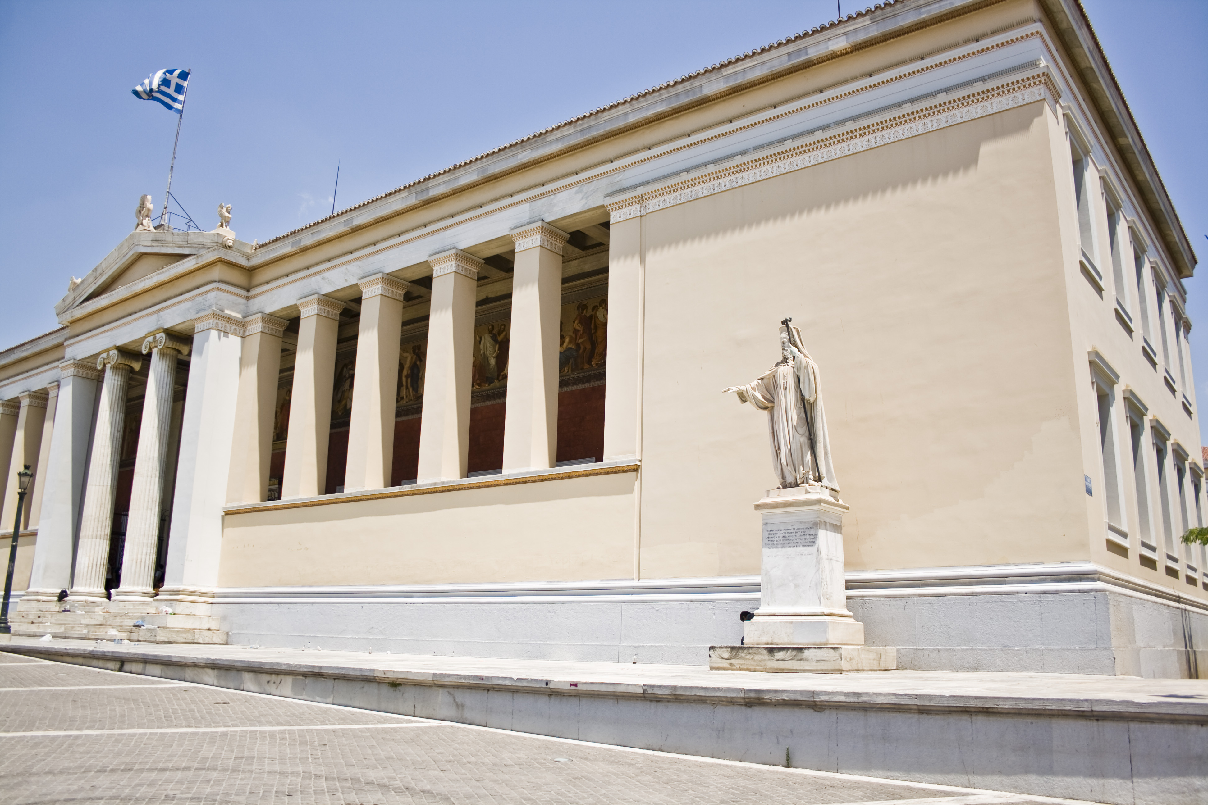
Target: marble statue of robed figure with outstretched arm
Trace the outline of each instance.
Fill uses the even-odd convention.
[[[747,385],[731,386],[741,402],[767,412],[772,467],[778,489],[819,485],[838,491],[831,462],[821,375],[801,340],[801,331],[782,322],[782,358]]]

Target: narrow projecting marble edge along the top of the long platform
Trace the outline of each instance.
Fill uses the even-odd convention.
[[[1194,723],[1208,724],[1208,686],[1201,699],[1189,701],[1185,698],[1169,702],[1140,702],[1111,698],[1035,698],[1012,696],[1004,694],[934,694],[934,693],[898,693],[869,690],[812,690],[777,687],[757,687],[733,684],[732,677],[718,679],[718,684],[673,684],[673,683],[632,683],[616,681],[591,681],[579,678],[552,678],[552,676],[496,676],[471,672],[439,672],[406,669],[358,667],[350,665],[327,665],[310,663],[290,663],[281,660],[254,660],[248,658],[223,658],[216,655],[187,655],[163,652],[140,651],[130,646],[97,647],[91,643],[66,646],[45,644],[31,638],[13,638],[0,651],[71,663],[72,660],[95,660],[117,663],[117,669],[128,673],[143,673],[140,670],[126,667],[128,664],[172,665],[185,667],[211,669],[215,671],[234,671],[251,673],[278,673],[284,676],[314,676],[354,682],[410,683],[431,687],[458,687],[493,689],[515,693],[546,692],[551,694],[577,696],[639,698],[646,700],[691,700],[718,704],[776,704],[798,705],[803,707],[827,708],[876,708],[902,712],[986,712],[1003,716],[1041,716],[1065,718],[1123,719],[1157,723]],[[80,641],[85,643],[86,641]],[[234,647],[238,648],[238,647]],[[280,651],[280,649],[273,649]],[[391,655],[391,660],[405,660],[406,655]],[[422,657],[430,661],[431,657]],[[467,658],[459,658],[467,659]],[[85,664],[85,663],[77,663]],[[731,675],[748,673],[741,671],[710,671],[710,673]],[[881,672],[876,672],[881,673]],[[153,676],[153,675],[146,675]],[[759,677],[783,677],[783,673],[750,673]],[[788,675],[795,678],[803,675]],[[817,675],[834,681],[836,676]],[[766,681],[766,679],[761,679]],[[216,683],[217,687],[230,687]]]

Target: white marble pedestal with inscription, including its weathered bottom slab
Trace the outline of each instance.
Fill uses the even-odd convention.
[[[763,519],[760,607],[742,646],[709,648],[709,667],[727,671],[888,671],[894,648],[864,644],[864,624],[847,609],[843,514],[820,486],[773,489],[755,503]]]

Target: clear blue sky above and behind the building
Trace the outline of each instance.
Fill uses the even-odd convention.
[[[1208,2],[1086,7],[1206,257]],[[0,348],[57,326],[141,193],[158,214],[176,117],[130,95],[153,70],[194,70],[174,194],[205,228],[230,203],[239,238],[267,240],[331,210],[337,159],[347,206],[834,18],[835,0],[0,0]],[[1187,288],[1204,401],[1208,284]]]

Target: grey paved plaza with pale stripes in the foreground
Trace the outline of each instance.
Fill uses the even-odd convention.
[[[4,803],[1069,803],[540,737],[0,653]]]

